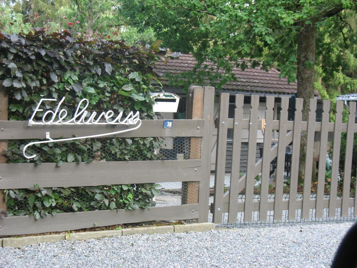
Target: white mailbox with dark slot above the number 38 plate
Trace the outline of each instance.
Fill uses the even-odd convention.
[[[152,93],[151,98],[155,100],[152,105],[154,112],[176,113],[180,97],[173,93]]]

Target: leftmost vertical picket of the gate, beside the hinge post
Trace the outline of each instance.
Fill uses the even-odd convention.
[[[220,111],[218,114],[218,134],[215,172],[215,197],[213,201],[213,222],[222,223],[223,189],[226,167],[227,149],[227,120],[228,120],[229,94],[221,93]]]

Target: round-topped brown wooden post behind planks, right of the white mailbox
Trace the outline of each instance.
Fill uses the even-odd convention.
[[[203,88],[190,86],[187,91],[186,119],[203,118]],[[189,159],[201,158],[201,138],[191,138]],[[182,182],[181,204],[198,203],[198,182]]]

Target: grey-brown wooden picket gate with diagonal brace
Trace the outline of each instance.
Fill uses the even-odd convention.
[[[273,211],[273,220],[282,219],[282,211],[288,212],[288,220],[296,219],[297,210],[301,210],[301,218],[307,219],[311,209],[315,211],[315,218],[322,218],[323,210],[328,209],[328,218],[336,217],[337,208],[341,217],[347,217],[350,208],[354,208],[357,216],[357,199],[355,195],[355,172],[352,170],[353,138],[357,132],[355,124],[356,103],[350,102],[348,123],[342,123],[343,102],[337,101],[335,122],[330,123],[330,100],[323,100],[322,121],[316,122],[317,100],[310,100],[308,121],[302,121],[302,99],[296,99],[295,121],[288,121],[289,98],[281,98],[280,120],[273,120],[275,98],[266,98],[265,120],[258,119],[259,96],[252,95],[250,118],[243,119],[244,96],[237,94],[235,99],[234,118],[228,118],[229,94],[220,96],[218,116],[218,138],[215,174],[215,195],[211,204],[213,222],[222,223],[222,214],[228,213],[228,223],[236,222],[237,213],[244,212],[244,222],[252,221],[253,212],[258,212],[258,220],[266,221],[267,213]],[[232,128],[233,155],[230,188],[224,192],[225,157],[227,129]],[[240,176],[241,135],[242,130],[249,131],[247,172]],[[264,130],[263,155],[256,162],[257,130]],[[278,142],[272,144],[273,130],[278,130]],[[319,150],[317,181],[312,182],[313,148],[315,133],[320,132],[321,142]],[[328,143],[328,133],[333,132],[333,145]],[[341,148],[341,133],[346,134],[346,150]],[[301,136],[306,135],[306,162],[303,185],[298,185],[298,171],[300,159]],[[286,172],[286,147],[292,145],[290,174]],[[326,173],[326,158],[328,147],[333,149],[331,175]],[[345,154],[345,163],[340,163],[340,154]],[[275,165],[274,165],[275,163]],[[268,198],[271,193],[272,166],[276,167],[275,190],[273,200]],[[341,166],[343,167],[343,173]],[[353,172],[353,173],[352,173]],[[260,189],[255,188],[256,176],[261,174]],[[290,177],[287,178],[286,175]],[[352,178],[351,178],[352,177]],[[343,178],[343,180],[341,180]],[[285,183],[289,184],[286,187]],[[299,192],[298,193],[298,187]],[[244,190],[242,202],[238,202],[238,195]],[[312,198],[312,191],[316,190],[316,198]],[[288,198],[283,199],[283,192]],[[297,198],[300,194],[300,197]],[[258,196],[258,198],[255,198]],[[350,210],[351,211],[351,210]]]

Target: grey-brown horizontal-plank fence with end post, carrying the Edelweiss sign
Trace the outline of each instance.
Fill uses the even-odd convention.
[[[214,88],[193,86],[190,92],[193,108],[192,114],[188,116],[191,118],[196,116],[195,119],[173,120],[172,128],[163,128],[164,120],[142,120],[139,129],[117,134],[116,137],[190,137],[191,143],[211,144],[214,127],[212,123]],[[201,103],[196,105],[193,97],[198,95],[202,98],[198,98]],[[198,113],[197,109],[201,109],[201,112]],[[29,126],[28,121],[6,121],[7,112],[5,118],[1,119],[1,146],[6,144],[6,140],[43,139],[45,132],[50,132],[51,138],[66,138],[72,135],[80,137],[105,133],[104,131],[110,133],[114,127],[112,125],[47,125],[44,130],[44,126],[41,125]],[[119,125],[115,128],[120,130],[127,126]],[[1,148],[4,150],[2,154],[6,152],[4,146]],[[79,187],[183,182],[185,184],[183,187],[187,187],[188,190],[191,184],[196,185],[197,199],[193,203],[186,200],[186,204],[151,209],[58,213],[54,216],[47,215],[39,220],[35,220],[34,216],[6,217],[0,219],[0,236],[90,228],[94,227],[94,223],[96,227],[100,227],[152,220],[198,219],[198,222],[207,222],[210,148],[207,146],[200,146],[200,148],[201,151],[196,152],[196,156],[188,160],[64,163],[61,167],[56,167],[56,163],[36,165],[2,162],[0,164],[0,189],[32,188],[35,183],[41,187]]]

